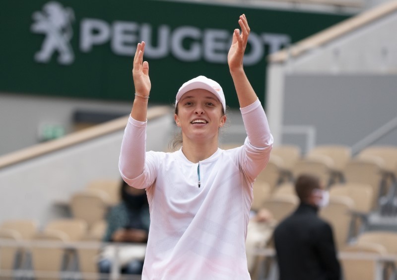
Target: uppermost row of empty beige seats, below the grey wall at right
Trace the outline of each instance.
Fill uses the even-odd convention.
[[[396,214],[397,146],[373,146],[352,157],[350,148],[340,145],[315,147],[303,157],[296,146],[274,147],[257,185],[268,183],[270,192],[300,174],[318,176],[327,186],[341,183],[365,184],[373,188],[372,209]],[[391,207],[391,205],[393,207]]]

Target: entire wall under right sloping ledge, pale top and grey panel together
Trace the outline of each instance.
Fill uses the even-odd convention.
[[[396,117],[391,103],[396,104],[394,30],[397,12],[296,58],[269,64],[266,104],[275,145],[296,142],[307,150],[310,133],[317,133],[314,145],[353,145]],[[304,132],[289,133],[293,129],[286,126],[292,123],[303,125]],[[392,142],[388,136],[378,143]]]

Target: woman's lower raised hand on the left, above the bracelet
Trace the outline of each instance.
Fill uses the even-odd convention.
[[[142,96],[149,96],[150,79],[149,79],[149,63],[143,61],[143,52],[145,50],[145,42],[138,43],[135,56],[133,58],[132,78],[135,86],[135,93]]]

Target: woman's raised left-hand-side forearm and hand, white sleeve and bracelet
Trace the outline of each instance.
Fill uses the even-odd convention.
[[[149,64],[143,62],[145,43],[136,47],[133,59],[132,78],[135,87],[131,116],[124,132],[119,170],[123,179],[132,185],[132,180],[142,174],[145,166],[146,115],[150,93]]]

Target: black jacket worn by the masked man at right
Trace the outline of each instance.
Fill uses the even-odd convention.
[[[280,280],[340,280],[332,228],[301,203],[274,230]]]

